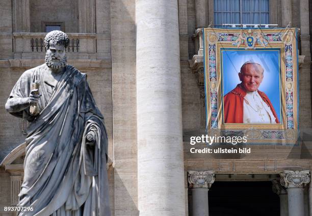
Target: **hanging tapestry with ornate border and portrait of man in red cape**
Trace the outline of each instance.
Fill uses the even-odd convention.
[[[204,28],[206,131],[296,144],[297,28]]]

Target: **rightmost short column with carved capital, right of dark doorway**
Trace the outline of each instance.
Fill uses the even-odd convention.
[[[310,171],[284,171],[281,184],[287,188],[289,216],[304,216],[304,187],[310,181]]]

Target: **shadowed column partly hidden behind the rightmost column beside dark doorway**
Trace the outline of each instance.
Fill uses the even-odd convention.
[[[279,179],[272,182],[272,190],[279,196],[279,215],[288,216],[287,190],[281,186]]]

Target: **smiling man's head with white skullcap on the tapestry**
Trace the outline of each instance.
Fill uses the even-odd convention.
[[[263,80],[263,69],[257,64],[247,64],[239,77],[247,91],[256,91]]]

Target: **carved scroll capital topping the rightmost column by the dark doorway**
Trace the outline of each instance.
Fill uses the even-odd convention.
[[[280,174],[280,184],[285,188],[304,188],[310,182],[310,171],[285,170]]]

